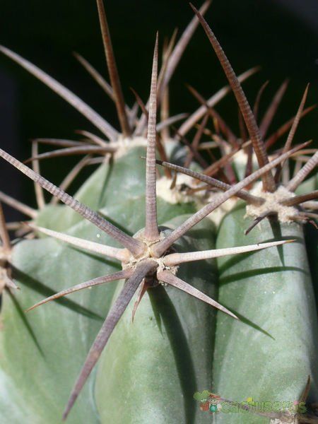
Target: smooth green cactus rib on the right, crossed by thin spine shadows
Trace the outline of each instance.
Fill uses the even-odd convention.
[[[251,221],[238,207],[223,219],[217,247],[291,237],[294,243],[218,259],[219,301],[240,317],[218,315],[213,387],[225,399],[293,402],[307,377],[317,399],[317,311],[307,264],[302,226],[268,220],[242,235]],[[218,423],[268,423],[246,413],[221,413]]]

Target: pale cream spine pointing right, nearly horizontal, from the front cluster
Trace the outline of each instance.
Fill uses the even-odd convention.
[[[229,254],[240,254],[246,252],[254,252],[255,250],[268,249],[273,246],[285,245],[295,240],[281,240],[279,242],[259,243],[257,245],[227,247],[226,249],[203,250],[201,252],[172,253],[163,258],[165,266],[175,266],[184,264],[184,262],[202,261],[204,259],[212,259],[228,256]]]

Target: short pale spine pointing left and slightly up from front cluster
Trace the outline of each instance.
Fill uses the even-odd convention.
[[[127,262],[129,261],[130,254],[126,249],[117,249],[117,247],[111,247],[102,245],[101,243],[90,242],[88,240],[81,239],[79,237],[73,237],[63,232],[49,230],[48,228],[38,227],[37,225],[27,223],[33,230],[40,231],[43,234],[54,237],[57,240],[66,242],[69,245],[80,247],[81,249],[89,250],[90,252],[102,254],[104,256],[117,259],[118,261]]]

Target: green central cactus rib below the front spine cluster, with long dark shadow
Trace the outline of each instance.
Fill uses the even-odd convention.
[[[184,218],[163,226],[175,228]],[[175,249],[213,249],[213,233],[211,221],[204,220]],[[181,265],[177,276],[216,297],[213,261],[194,269]],[[134,302],[130,305],[98,366],[95,396],[101,423],[209,423],[211,416],[199,410],[193,395],[211,387],[215,311],[164,286],[148,290],[133,323]]]

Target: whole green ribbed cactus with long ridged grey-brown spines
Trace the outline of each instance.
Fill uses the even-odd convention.
[[[144,105],[136,95],[141,107],[136,119],[136,108],[125,105],[122,96],[105,8],[102,1],[97,4],[111,86],[86,59],[78,59],[114,98],[121,132],[1,47],[109,139],[88,131],[81,131],[86,143],[36,139],[29,160],[33,170],[0,148],[1,158],[40,187],[39,210],[27,213],[31,221],[23,227],[29,240],[11,242],[0,205],[1,417],[5,423],[39,424],[59,423],[62,417],[69,423],[208,423],[209,410],[218,411],[220,423],[316,422],[308,402],[305,408],[317,394],[318,341],[302,227],[317,218],[317,187],[307,193],[310,183],[304,182],[317,166],[317,153],[287,181],[285,171],[308,144],[291,148],[308,110],[308,88],[287,126],[283,150],[269,160],[264,134],[275,109],[270,107],[259,129],[240,85],[252,72],[235,76],[204,20],[206,1],[201,12],[192,6],[196,16],[175,49],[173,43],[167,47],[160,73],[157,35],[149,100]],[[237,140],[213,109],[229,88],[207,101],[190,88],[201,107],[175,139],[158,136],[158,105],[165,103],[180,52],[199,23],[240,105],[249,133],[245,141]],[[285,84],[276,100],[284,90]],[[179,119],[166,112],[166,124]],[[220,148],[223,158],[212,164],[199,153],[208,116],[218,119],[228,137]],[[184,148],[180,139],[201,118],[193,143],[185,141]],[[59,149],[38,154],[42,142]],[[246,169],[236,153],[245,155]],[[39,160],[73,154],[86,157],[61,187],[40,175]],[[74,197],[66,194],[83,166],[98,162]],[[41,190],[52,194],[50,204]],[[233,198],[225,214],[221,208]],[[5,195],[0,200],[19,206]],[[316,246],[307,243],[307,249],[310,258],[317,254]],[[216,408],[221,401],[232,412],[246,401],[240,408],[245,413],[225,413],[225,404],[222,413]],[[254,408],[255,401],[298,401],[298,407],[264,410]]]

